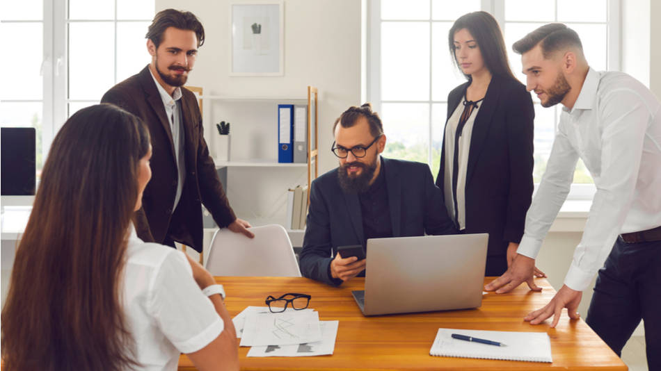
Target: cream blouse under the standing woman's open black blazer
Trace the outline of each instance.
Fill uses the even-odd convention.
[[[470,112],[470,116],[466,120],[466,123],[461,130],[461,137],[459,137],[459,152],[457,153],[457,164],[459,169],[457,169],[456,174],[456,205],[458,217],[454,215],[454,198],[452,197],[452,172],[454,170],[454,135],[456,133],[456,128],[459,126],[459,119],[461,119],[461,114],[465,106],[463,102],[465,97],[461,99],[459,104],[456,106],[454,113],[447,120],[447,125],[445,125],[445,183],[443,183],[443,193],[445,194],[445,208],[447,209],[447,215],[452,218],[452,220],[457,220],[459,222],[459,230],[466,228],[466,171],[468,170],[468,153],[470,151],[470,138],[472,136],[473,124],[475,123],[475,117],[477,117],[477,110],[482,105],[480,101],[477,104],[477,107],[473,107]]]

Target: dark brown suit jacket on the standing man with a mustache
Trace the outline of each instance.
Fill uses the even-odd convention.
[[[202,251],[202,204],[223,228],[234,222],[230,203],[218,179],[203,135],[202,115],[195,95],[182,88],[182,121],[186,179],[182,197],[173,214],[177,192],[177,162],[170,122],[149,66],[108,90],[101,99],[140,117],[152,140],[152,180],[143,194],[143,207],[136,213],[136,231],[145,241],[163,243],[172,224],[174,240]]]

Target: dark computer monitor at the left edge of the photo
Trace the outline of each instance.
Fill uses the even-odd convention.
[[[0,194],[31,196],[36,181],[34,128],[0,129]]]

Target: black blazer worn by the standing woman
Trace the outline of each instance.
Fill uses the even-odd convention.
[[[468,83],[449,93],[447,119],[466,88]],[[502,270],[503,263],[507,270],[507,245],[520,242],[523,236],[533,190],[534,115],[532,98],[523,84],[509,77],[492,77],[473,124],[465,183],[465,232],[489,233],[489,275],[496,275],[497,266],[501,267],[496,272]],[[443,190],[445,181],[443,140],[438,188]]]

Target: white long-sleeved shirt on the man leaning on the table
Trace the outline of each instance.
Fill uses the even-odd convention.
[[[535,258],[581,158],[594,179],[581,241],[564,283],[585,290],[620,233],[661,226],[661,104],[621,72],[589,69],[571,110],[563,108],[546,171],[526,215],[519,254]]]

